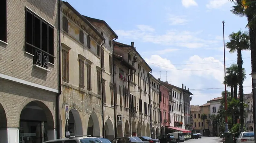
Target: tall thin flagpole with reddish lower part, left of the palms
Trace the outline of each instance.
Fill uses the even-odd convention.
[[[225,56],[225,34],[224,34],[224,20],[222,21],[223,25],[223,54],[224,54],[224,79],[226,78],[226,56]],[[228,106],[227,106],[227,86],[225,86],[225,110],[227,111]],[[228,127],[228,117],[225,117],[225,133],[229,132],[229,127]]]

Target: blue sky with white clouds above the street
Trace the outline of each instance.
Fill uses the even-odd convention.
[[[153,69],[155,78],[194,94],[191,105],[203,105],[224,91],[223,28],[225,43],[232,32],[248,31],[246,18],[230,12],[228,0],[67,0],[80,14],[105,20]],[[226,67],[237,54],[225,48]],[[251,52],[243,51],[247,78],[244,93],[251,93]],[[230,91],[230,88],[227,87]]]

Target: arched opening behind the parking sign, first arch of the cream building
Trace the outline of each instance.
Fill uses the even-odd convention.
[[[69,111],[69,120],[66,122],[65,132],[69,131],[69,136],[71,135],[83,135],[82,121],[77,110]]]

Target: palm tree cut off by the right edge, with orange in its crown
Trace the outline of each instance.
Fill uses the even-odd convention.
[[[248,20],[248,24],[246,25],[249,28],[250,35],[250,46],[251,46],[251,72],[256,72],[256,1],[255,0],[229,0],[235,5],[231,9],[231,12],[237,16],[245,17]],[[255,93],[253,93],[255,95]],[[254,96],[252,96],[254,101]],[[254,114],[253,104],[253,121],[254,126],[256,124],[256,118]]]

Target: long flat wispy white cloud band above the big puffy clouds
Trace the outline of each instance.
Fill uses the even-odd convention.
[[[217,40],[204,40],[199,38],[202,31],[190,32],[190,31],[177,31],[167,30],[164,34],[157,34],[153,28],[144,26],[134,30],[115,30],[116,34],[122,38],[128,38],[133,40],[140,40],[142,42],[151,42],[160,45],[172,45],[177,47],[186,48],[201,48],[209,47],[216,44]]]

